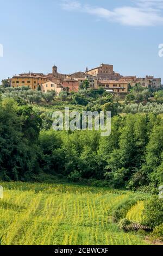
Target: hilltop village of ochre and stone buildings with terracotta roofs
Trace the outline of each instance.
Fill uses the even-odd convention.
[[[12,88],[27,86],[33,90],[40,88],[42,93],[55,90],[55,93],[59,94],[64,90],[78,92],[85,80],[89,82],[89,88],[104,88],[106,92],[116,94],[127,94],[129,84],[131,87],[134,87],[135,84],[140,84],[144,88],[161,87],[161,78],[154,78],[154,76],[143,78],[122,76],[114,71],[113,65],[103,63],[97,68],[91,70],[86,68],[85,72],[79,71],[71,75],[58,73],[58,68],[54,65],[52,73],[47,75],[29,72],[14,75],[8,79],[8,82]]]

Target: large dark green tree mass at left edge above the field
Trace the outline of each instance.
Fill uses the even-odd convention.
[[[0,177],[26,180],[39,170],[36,145],[41,119],[32,108],[4,99],[0,108]]]

